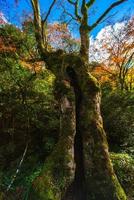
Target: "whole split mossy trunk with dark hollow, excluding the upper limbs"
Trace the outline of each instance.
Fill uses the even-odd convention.
[[[61,137],[33,182],[31,200],[126,200],[110,161],[99,83],[85,59],[73,54],[61,58],[64,76],[56,88]]]

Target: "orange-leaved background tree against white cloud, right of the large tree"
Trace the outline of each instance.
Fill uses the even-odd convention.
[[[109,25],[91,39],[90,58],[105,65],[120,90],[131,90],[133,85],[134,19]]]

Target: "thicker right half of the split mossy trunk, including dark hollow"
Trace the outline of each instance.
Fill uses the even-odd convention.
[[[101,92],[86,66],[76,67],[76,160],[75,200],[126,200],[110,161],[100,113]],[[78,92],[79,90],[79,92]],[[77,108],[78,106],[78,108]],[[75,141],[76,142],[76,141]],[[75,155],[76,156],[76,155]],[[78,155],[77,155],[78,157]],[[78,164],[78,165],[77,165]],[[80,178],[82,172],[82,178]],[[81,191],[81,192],[80,192]]]

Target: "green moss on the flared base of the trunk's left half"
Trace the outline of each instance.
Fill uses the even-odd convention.
[[[46,160],[42,172],[34,180],[30,195],[34,194],[38,200],[61,199],[74,178],[68,165],[73,159],[68,153],[70,145],[69,139],[66,137],[61,139],[54,152]]]

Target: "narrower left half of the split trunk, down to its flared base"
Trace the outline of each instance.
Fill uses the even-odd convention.
[[[75,106],[69,82],[56,81],[56,96],[61,108],[60,139],[33,182],[30,200],[60,200],[74,180]]]

